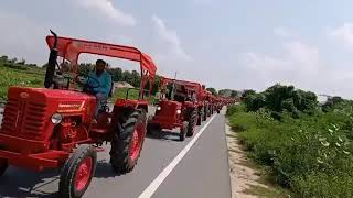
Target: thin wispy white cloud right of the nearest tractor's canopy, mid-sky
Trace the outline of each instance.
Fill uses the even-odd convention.
[[[158,37],[169,46],[167,51],[163,48],[163,52],[159,53],[159,58],[164,59],[172,56],[183,61],[191,61],[191,56],[189,56],[181,46],[178,33],[168,29],[164,21],[157,15],[152,15],[152,21],[154,23]]]

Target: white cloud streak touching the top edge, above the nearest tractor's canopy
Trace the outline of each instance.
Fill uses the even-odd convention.
[[[125,13],[120,9],[114,7],[110,0],[78,0],[79,6],[88,9],[99,10],[107,18],[122,25],[135,26],[136,19],[129,14]]]

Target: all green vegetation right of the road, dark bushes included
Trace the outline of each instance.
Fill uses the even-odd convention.
[[[227,110],[250,157],[296,197],[353,196],[353,102],[292,86],[249,92]]]

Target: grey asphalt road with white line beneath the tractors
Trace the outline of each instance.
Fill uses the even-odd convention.
[[[223,114],[215,114],[184,142],[173,132],[148,136],[136,168],[126,175],[113,174],[106,146],[84,197],[229,198],[224,122]],[[0,197],[57,197],[57,185],[58,170],[10,167],[0,177]]]

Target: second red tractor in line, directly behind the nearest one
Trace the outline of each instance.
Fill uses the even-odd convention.
[[[196,82],[161,78],[161,99],[154,116],[149,118],[148,132],[161,129],[180,128],[180,141],[192,136],[197,121],[197,92],[201,85]]]

